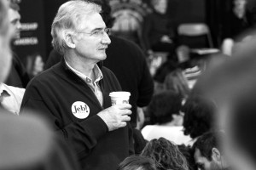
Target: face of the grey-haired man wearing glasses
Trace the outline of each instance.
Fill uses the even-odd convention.
[[[102,16],[98,13],[90,15],[84,19],[80,28],[75,36],[76,53],[93,61],[106,59],[106,48],[111,41],[108,34],[103,32],[106,25]]]

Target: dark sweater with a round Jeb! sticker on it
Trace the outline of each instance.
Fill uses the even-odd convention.
[[[89,86],[67,68],[64,59],[32,79],[21,104],[21,116],[26,115],[26,109],[32,109],[35,114],[48,118],[49,125],[67,140],[86,170],[116,169],[129,156],[132,146],[129,126],[108,132],[105,122],[96,115],[111,106],[108,94],[121,90],[112,71],[102,67],[102,74],[103,107]],[[83,105],[74,105],[77,101]],[[77,112],[83,110],[89,116],[77,118]]]

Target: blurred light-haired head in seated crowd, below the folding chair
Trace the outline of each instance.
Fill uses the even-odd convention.
[[[183,98],[187,98],[189,95],[189,83],[180,69],[167,74],[164,82],[164,88],[180,94]]]

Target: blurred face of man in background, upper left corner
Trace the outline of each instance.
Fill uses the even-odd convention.
[[[10,22],[10,30],[12,31],[12,38],[17,39],[20,38],[20,14],[19,11],[9,8],[9,22]]]

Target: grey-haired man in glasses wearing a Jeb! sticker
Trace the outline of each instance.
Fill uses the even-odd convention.
[[[100,6],[85,1],[61,5],[52,37],[64,57],[32,80],[20,113],[33,109],[46,116],[86,170],[116,169],[132,151],[131,105],[111,106],[108,95],[121,90],[119,82],[107,68],[96,65],[106,59],[110,44],[100,11]]]

